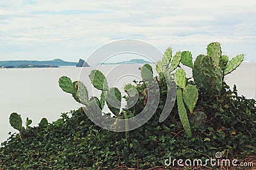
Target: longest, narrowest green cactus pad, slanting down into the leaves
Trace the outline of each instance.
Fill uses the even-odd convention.
[[[184,103],[183,103],[183,97],[182,97],[182,90],[181,89],[177,90],[177,104],[178,104],[180,122],[182,123],[186,134],[189,137],[191,137],[192,136],[191,127],[190,127],[190,124],[189,124],[187,111],[186,111],[186,108],[185,108]]]

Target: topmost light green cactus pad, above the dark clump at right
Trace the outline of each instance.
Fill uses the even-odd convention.
[[[221,52],[220,43],[214,42],[214,43],[210,43],[207,46],[207,55],[209,55],[212,58],[212,60],[214,60],[214,64],[216,67],[219,66],[221,53],[222,52]]]

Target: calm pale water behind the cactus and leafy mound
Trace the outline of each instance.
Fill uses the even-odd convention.
[[[103,66],[100,70],[108,74],[109,87],[122,89],[125,83],[137,79],[140,75],[140,65]],[[8,118],[10,113],[17,112],[22,116],[23,125],[26,117],[37,125],[42,117],[49,122],[60,118],[60,113],[76,110],[80,107],[70,94],[63,92],[58,86],[58,78],[67,75],[72,80],[81,80],[86,84],[92,96],[99,95],[97,90],[91,91],[92,85],[88,74],[91,68],[59,67],[59,68],[29,68],[29,69],[0,69],[0,143],[8,138],[8,132],[13,129]],[[186,69],[189,73],[189,69]],[[246,63],[234,73],[227,76],[227,82],[232,87],[236,82],[240,95],[248,98],[256,96],[256,64]],[[124,92],[123,92],[124,93]],[[123,103],[124,105],[125,103]]]

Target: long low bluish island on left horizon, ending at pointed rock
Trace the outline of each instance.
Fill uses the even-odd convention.
[[[83,62],[83,66],[90,67],[84,60],[80,59],[79,62]],[[60,66],[77,66],[77,62],[67,62],[61,59],[54,60],[8,60],[0,61],[0,68],[30,68],[30,67],[60,67]],[[79,66],[77,66],[79,67]]]

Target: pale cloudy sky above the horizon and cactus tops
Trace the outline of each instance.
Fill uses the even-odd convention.
[[[0,60],[77,62],[119,39],[195,58],[218,41],[225,55],[256,62],[256,1],[0,1]]]

